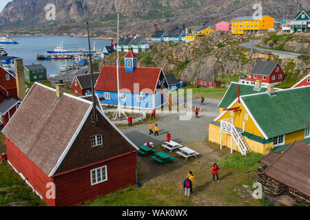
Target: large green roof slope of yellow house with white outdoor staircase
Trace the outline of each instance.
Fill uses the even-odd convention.
[[[240,98],[269,138],[310,127],[310,87],[276,91]]]

